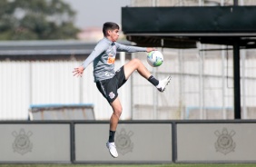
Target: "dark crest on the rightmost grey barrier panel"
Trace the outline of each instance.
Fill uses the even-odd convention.
[[[236,146],[235,142],[232,140],[234,134],[234,131],[229,133],[227,128],[223,128],[222,133],[215,131],[215,135],[218,137],[217,142],[215,142],[216,151],[222,152],[225,155],[229,152],[234,152]]]

